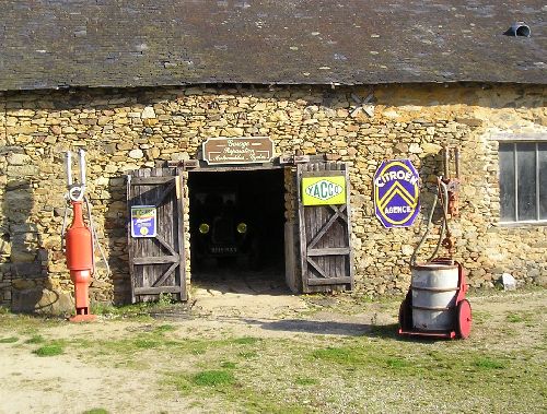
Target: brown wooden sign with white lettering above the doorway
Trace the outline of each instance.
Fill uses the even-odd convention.
[[[274,157],[274,142],[268,137],[210,138],[202,151],[208,165],[263,164]]]

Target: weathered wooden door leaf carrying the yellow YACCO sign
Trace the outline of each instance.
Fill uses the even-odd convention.
[[[296,174],[302,289],[304,293],[352,289],[349,177],[346,164],[299,164]],[[326,182],[329,177],[344,177],[344,203],[304,205],[302,196],[305,177],[325,177]]]

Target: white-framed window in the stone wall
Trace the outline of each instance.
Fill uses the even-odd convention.
[[[547,223],[547,142],[500,142],[500,222]]]

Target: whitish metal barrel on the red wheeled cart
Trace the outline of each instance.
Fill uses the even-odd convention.
[[[412,326],[422,331],[454,327],[459,289],[457,264],[424,263],[411,267]]]

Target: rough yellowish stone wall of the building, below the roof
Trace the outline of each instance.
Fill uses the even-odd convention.
[[[442,174],[441,147],[459,145],[462,214],[452,227],[456,259],[469,270],[470,284],[492,286],[503,272],[522,282],[544,283],[547,227],[498,223],[494,138],[500,131],[545,134],[545,87],[446,86],[3,93],[0,303],[15,309],[70,307],[71,284],[60,244],[65,151],[88,151],[89,196],[113,270],[107,276],[98,269],[92,297],[123,303],[130,288],[125,175],[193,158],[211,137],[267,135],[278,155],[325,153],[348,163],[356,288],[370,294],[408,287],[408,260],[423,232],[435,176]],[[372,104],[362,104],[370,93]],[[380,162],[389,158],[410,158],[422,177],[423,213],[409,228],[385,229],[374,217],[372,177]],[[295,209],[291,176],[286,174],[288,220]],[[433,236],[423,257],[431,251]]]

